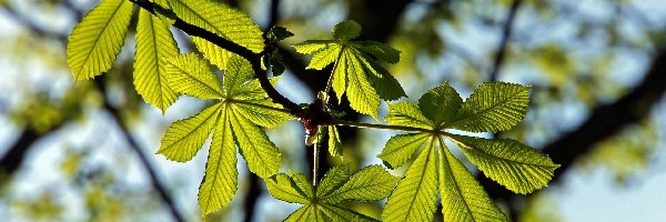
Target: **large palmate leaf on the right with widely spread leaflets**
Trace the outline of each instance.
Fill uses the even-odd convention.
[[[480,87],[467,101],[444,83],[427,91],[418,107],[389,103],[391,125],[414,128],[416,133],[392,137],[379,158],[396,168],[417,155],[384,208],[385,221],[432,221],[440,191],[445,221],[507,221],[483,188],[444,144],[457,148],[488,178],[516,193],[547,185],[554,164],[547,155],[511,139],[490,140],[457,135],[447,129],[473,132],[507,130],[525,117],[528,88],[492,82]],[[418,130],[422,129],[422,130]],[[436,160],[436,161],[435,161]]]

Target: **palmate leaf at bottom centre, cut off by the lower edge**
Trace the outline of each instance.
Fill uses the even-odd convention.
[[[354,174],[350,174],[347,165],[337,165],[316,188],[301,173],[291,173],[291,176],[281,173],[265,179],[271,195],[303,204],[285,221],[377,221],[337,204],[384,199],[397,180],[380,165],[364,168]]]

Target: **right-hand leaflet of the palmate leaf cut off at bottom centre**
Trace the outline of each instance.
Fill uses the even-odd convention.
[[[346,200],[376,201],[386,198],[400,180],[380,165],[371,165],[354,173],[344,185],[321,199],[331,204]]]

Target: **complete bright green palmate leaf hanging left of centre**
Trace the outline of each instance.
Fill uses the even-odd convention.
[[[214,102],[169,127],[158,151],[169,160],[191,160],[213,132],[199,188],[199,204],[205,215],[229,204],[238,190],[236,147],[251,172],[262,178],[278,173],[281,154],[261,127],[276,127],[291,117],[270,103],[256,80],[251,80],[253,72],[245,69],[249,62],[238,56],[230,58],[223,83],[196,54],[179,54],[165,61],[167,80],[175,92]]]

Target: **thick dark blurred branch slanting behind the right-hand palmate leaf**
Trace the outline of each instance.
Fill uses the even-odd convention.
[[[629,93],[613,103],[597,107],[576,130],[564,134],[543,149],[543,152],[548,154],[555,163],[562,164],[555,171],[551,184],[556,183],[582,155],[592,152],[596,143],[648,117],[650,109],[664,97],[665,92],[666,49],[662,49],[655,56],[643,81]],[[491,198],[504,200],[513,208],[516,208],[516,200],[523,198],[523,195],[512,193],[491,181],[482,173],[477,174],[476,179],[480,180]]]

